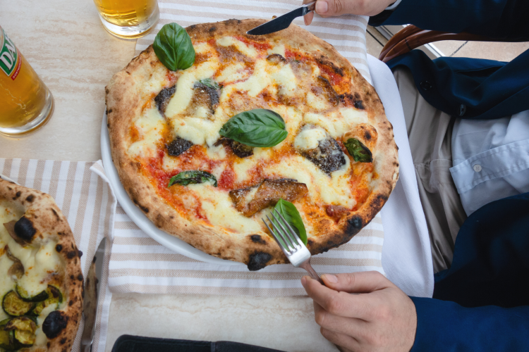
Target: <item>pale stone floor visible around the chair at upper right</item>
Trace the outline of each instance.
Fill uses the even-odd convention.
[[[380,34],[375,27],[367,27],[365,36],[367,53],[378,57],[387,39]],[[435,42],[434,46],[444,56],[458,58],[488,58],[497,61],[511,61],[516,56],[529,49],[529,42],[525,43],[501,43],[501,42],[458,42],[446,40]]]

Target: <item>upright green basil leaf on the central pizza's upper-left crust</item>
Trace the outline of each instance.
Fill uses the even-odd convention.
[[[169,70],[185,70],[195,63],[195,49],[188,32],[177,23],[169,23],[156,34],[154,53]]]

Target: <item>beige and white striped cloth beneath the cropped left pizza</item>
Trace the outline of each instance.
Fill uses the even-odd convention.
[[[100,163],[100,162],[99,162]],[[39,189],[54,197],[73,231],[75,243],[80,251],[81,268],[86,275],[94,258],[99,241],[111,234],[114,226],[116,199],[95,170],[92,162],[37,161],[0,159],[0,174],[25,187]],[[102,170],[101,164],[99,165]],[[102,289],[99,298],[99,314],[92,351],[104,351],[107,343],[107,322],[111,293],[108,289],[108,263],[110,247],[105,248],[104,267],[100,280]],[[83,321],[75,338],[72,351],[80,351]]]

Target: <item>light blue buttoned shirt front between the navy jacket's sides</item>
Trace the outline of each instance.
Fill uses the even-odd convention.
[[[495,120],[457,120],[450,168],[467,215],[529,191],[529,111]]]

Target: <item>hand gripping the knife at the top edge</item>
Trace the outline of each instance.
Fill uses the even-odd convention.
[[[313,0],[303,0],[303,4],[308,4]],[[344,15],[378,15],[384,8],[393,4],[396,0],[317,0],[316,13],[322,17]],[[312,23],[314,13],[305,15],[305,25]]]

